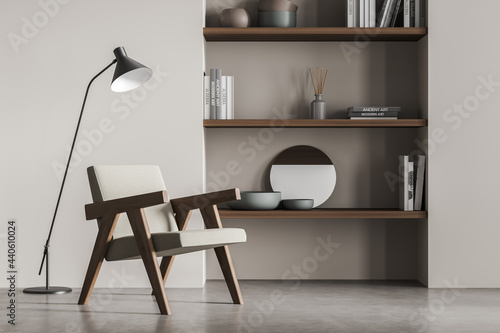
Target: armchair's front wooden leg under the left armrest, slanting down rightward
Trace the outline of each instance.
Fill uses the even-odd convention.
[[[144,214],[144,209],[134,209],[127,212],[132,231],[134,232],[137,247],[141,253],[142,261],[146,267],[153,293],[156,297],[156,302],[160,308],[160,312],[165,315],[172,314],[168,303],[167,294],[163,285],[163,277],[158,265],[158,259],[151,239],[151,233]]]

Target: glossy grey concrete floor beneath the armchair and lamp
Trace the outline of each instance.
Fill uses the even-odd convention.
[[[427,289],[401,281],[240,281],[244,305],[223,281],[202,289],[167,289],[173,314],[162,316],[147,289],[96,289],[87,306],[79,290],[18,293],[16,325],[1,332],[500,332],[499,289]]]

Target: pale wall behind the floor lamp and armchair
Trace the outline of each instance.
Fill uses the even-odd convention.
[[[42,3],[52,4],[45,9],[50,16]],[[23,37],[25,20],[39,28],[25,28]],[[50,247],[51,284],[81,287],[97,232],[95,221],[84,218],[91,202],[87,166],[159,164],[171,197],[203,188],[203,1],[4,1],[0,21],[0,253],[5,257],[7,219],[16,218],[20,287],[44,284],[37,272],[60,186],[52,164],[65,164],[89,80],[117,46],[156,72],[149,91],[111,92],[112,70],[90,91],[77,144],[81,159],[73,160]],[[25,38],[18,52],[9,33]],[[100,138],[95,130],[104,119],[111,129]],[[97,140],[87,150],[85,131]],[[190,226],[202,227],[200,218]],[[5,265],[1,260],[0,271]],[[168,285],[203,283],[203,253],[176,259]],[[97,287],[109,285],[148,286],[142,262],[105,263]]]

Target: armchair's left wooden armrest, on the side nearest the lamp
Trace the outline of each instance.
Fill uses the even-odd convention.
[[[95,202],[85,205],[87,220],[103,217],[106,214],[119,214],[131,208],[146,208],[168,202],[166,191],[158,191],[114,200]]]

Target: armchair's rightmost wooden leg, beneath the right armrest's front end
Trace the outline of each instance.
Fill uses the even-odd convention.
[[[205,222],[205,226],[208,229],[222,228],[222,222],[216,205],[202,208],[200,211],[203,221]],[[233,266],[231,254],[229,253],[229,248],[227,246],[221,246],[216,247],[214,251],[217,255],[217,260],[219,261],[220,268],[222,269],[222,274],[226,280],[233,303],[243,304],[243,297],[241,296],[240,285],[238,283],[238,279],[236,278],[236,271]]]

